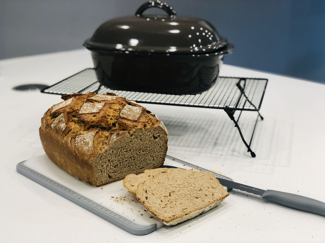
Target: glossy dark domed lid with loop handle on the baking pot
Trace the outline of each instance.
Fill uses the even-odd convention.
[[[158,7],[168,16],[143,15],[150,7]],[[134,16],[118,17],[103,23],[92,38],[85,41],[89,49],[160,53],[213,52],[227,44],[212,24],[193,17],[176,16],[166,3],[149,1]]]

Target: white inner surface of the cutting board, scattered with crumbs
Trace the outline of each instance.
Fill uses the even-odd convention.
[[[136,199],[136,196],[123,187],[122,180],[102,187],[94,187],[72,177],[46,155],[26,160],[24,165],[139,225],[157,224],[157,228],[163,226],[161,221],[145,211],[145,207]],[[192,169],[169,158],[166,158],[164,165]]]

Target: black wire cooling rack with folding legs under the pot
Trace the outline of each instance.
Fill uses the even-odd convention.
[[[251,150],[250,145],[252,143],[258,118],[260,117],[261,120],[263,120],[259,110],[264,98],[266,85],[267,79],[218,77],[215,84],[209,90],[196,95],[170,95],[124,91],[110,89],[100,85],[95,69],[87,68],[52,86],[46,87],[41,92],[59,95],[88,92],[101,94],[115,93],[116,95],[123,96],[129,100],[141,103],[223,109],[227,112],[229,118],[235,123],[235,127],[238,128],[240,137],[246,145],[248,152],[251,152],[251,155],[255,157],[255,153]],[[237,120],[234,118],[236,110],[240,111]],[[246,143],[238,125],[238,120],[243,110],[258,112],[249,144]]]

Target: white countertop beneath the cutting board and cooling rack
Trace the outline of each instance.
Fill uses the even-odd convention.
[[[93,64],[86,50],[0,61],[2,242],[324,242],[325,217],[244,192],[231,192],[225,204],[199,220],[135,236],[21,176],[17,163],[44,154],[41,117],[61,99],[11,88],[51,85],[88,67]],[[144,104],[169,131],[167,154],[236,182],[325,202],[325,85],[230,65],[220,75],[269,79],[260,110],[264,121],[257,123],[252,142],[256,157],[223,110]],[[246,111],[240,118],[247,140],[256,115]]]

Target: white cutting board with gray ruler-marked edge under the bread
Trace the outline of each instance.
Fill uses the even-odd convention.
[[[164,165],[209,171],[168,155]],[[132,234],[148,234],[164,225],[146,211],[136,196],[123,187],[122,180],[94,187],[72,177],[46,155],[20,162],[17,171]],[[209,172],[217,178],[232,180]]]

